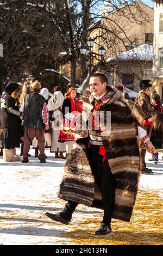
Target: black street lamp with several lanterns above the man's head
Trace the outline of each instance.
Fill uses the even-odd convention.
[[[98,48],[98,53],[92,51],[92,47],[94,45],[95,41],[90,38],[87,40],[87,46],[80,47],[80,54],[85,55],[87,57],[87,60],[89,62],[89,75],[91,76],[92,67],[94,65],[93,58],[97,56],[100,56],[101,59],[103,59],[103,56],[105,54],[105,48],[103,46]]]

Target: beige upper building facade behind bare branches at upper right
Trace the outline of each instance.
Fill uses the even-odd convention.
[[[110,10],[110,5],[105,9]],[[136,46],[153,44],[153,30],[154,10],[148,5],[136,1],[123,8],[112,9],[92,26],[90,37],[96,42],[93,51],[97,52],[99,45],[103,45],[107,59]]]

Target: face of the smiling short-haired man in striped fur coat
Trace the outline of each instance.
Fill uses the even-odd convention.
[[[99,77],[91,77],[90,78],[90,90],[91,90],[91,94],[92,96],[101,96],[103,93],[106,92],[106,86],[107,83],[104,82],[102,83],[99,80]]]

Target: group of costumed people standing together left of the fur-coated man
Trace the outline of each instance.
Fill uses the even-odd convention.
[[[49,96],[47,88],[41,88],[39,81],[24,88],[21,83],[10,82],[1,95],[1,155],[7,162],[29,162],[30,145],[35,149],[35,157],[41,163],[46,162],[45,148],[55,153],[55,158],[65,159],[75,145],[70,132],[62,132],[71,120],[65,114],[82,112],[82,102],[76,97],[77,90],[68,88],[64,97],[60,86],[54,86]],[[65,112],[66,109],[66,112]],[[21,157],[16,149],[21,143]],[[66,156],[63,155],[66,153]]]

